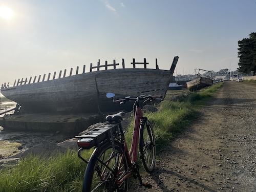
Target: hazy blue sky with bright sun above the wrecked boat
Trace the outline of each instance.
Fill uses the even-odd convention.
[[[0,0],[0,85],[133,58],[175,74],[238,68],[256,0]],[[81,73],[79,71],[79,73]]]

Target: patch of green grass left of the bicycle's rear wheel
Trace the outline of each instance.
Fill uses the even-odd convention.
[[[85,168],[73,151],[50,158],[28,156],[1,170],[0,191],[80,191]]]

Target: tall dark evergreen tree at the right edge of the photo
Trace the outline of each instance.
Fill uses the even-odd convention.
[[[249,38],[238,41],[238,71],[256,74],[256,33],[249,34]]]

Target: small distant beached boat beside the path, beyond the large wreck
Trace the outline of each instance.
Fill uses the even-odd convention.
[[[211,77],[211,72],[206,71],[206,72],[209,72],[210,75],[206,76],[206,77],[201,77],[200,73],[199,73],[200,70],[201,71],[206,71],[206,70],[203,70],[203,69],[199,69],[198,73],[196,74],[197,78],[194,79],[194,80],[186,82],[187,83],[187,89],[189,91],[197,91],[197,90],[201,90],[202,88],[212,86],[213,80],[212,80],[212,77]]]

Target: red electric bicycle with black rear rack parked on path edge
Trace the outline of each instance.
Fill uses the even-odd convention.
[[[127,191],[129,177],[133,175],[139,179],[140,186],[151,188],[152,185],[143,183],[139,173],[137,162],[138,144],[142,165],[146,172],[151,173],[156,161],[156,141],[152,124],[142,116],[140,101],[161,99],[161,96],[139,96],[137,98],[125,97],[114,100],[120,104],[134,100],[133,110],[135,114],[132,145],[128,151],[121,121],[124,112],[119,112],[105,117],[106,123],[92,131],[76,136],[78,157],[87,163],[83,178],[82,191]],[[83,150],[95,147],[89,161],[81,156]]]

